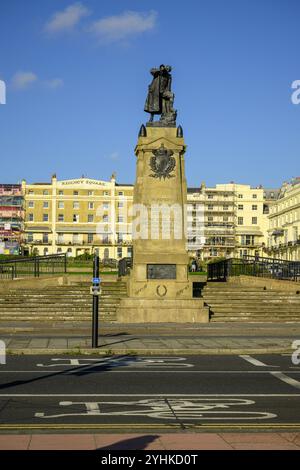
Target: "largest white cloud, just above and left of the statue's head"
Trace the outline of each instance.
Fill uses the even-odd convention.
[[[103,42],[116,42],[150,31],[156,25],[157,12],[125,11],[120,15],[101,18],[91,24],[89,31]]]

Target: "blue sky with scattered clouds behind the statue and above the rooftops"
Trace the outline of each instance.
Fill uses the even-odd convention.
[[[0,182],[135,178],[149,69],[173,66],[189,186],[299,175],[298,0],[1,0]]]

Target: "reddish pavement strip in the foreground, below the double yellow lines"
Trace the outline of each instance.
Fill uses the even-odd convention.
[[[300,450],[300,433],[0,435],[0,450]]]

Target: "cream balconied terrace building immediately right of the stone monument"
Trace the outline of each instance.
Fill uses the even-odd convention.
[[[188,189],[189,250],[202,259],[264,255],[269,205],[276,191],[246,184],[217,184]],[[194,227],[202,217],[203,233],[195,244]]]

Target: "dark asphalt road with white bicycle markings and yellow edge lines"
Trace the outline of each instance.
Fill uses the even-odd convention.
[[[0,431],[300,429],[290,355],[8,356]]]

